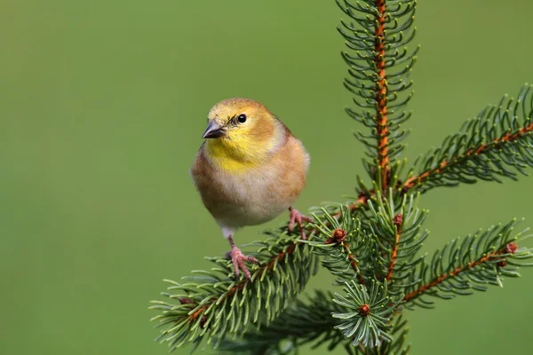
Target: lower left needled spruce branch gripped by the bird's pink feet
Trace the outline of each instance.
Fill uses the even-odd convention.
[[[317,260],[298,237],[281,231],[271,235],[253,243],[260,247],[252,254],[260,265],[251,280],[243,276],[234,280],[232,264],[222,257],[211,258],[217,264],[211,271],[184,278],[187,283],[168,280],[171,292],[163,296],[171,301],[152,301],[155,305],[150,307],[161,312],[152,319],[163,327],[157,340],[169,343],[171,350],[188,343],[211,343],[215,337],[219,342],[227,334],[243,334],[251,323],[268,324],[287,308],[316,272]]]

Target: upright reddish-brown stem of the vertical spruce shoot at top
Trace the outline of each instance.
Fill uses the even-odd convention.
[[[378,164],[381,168],[381,189],[386,191],[388,183],[389,157],[388,157],[388,128],[387,128],[387,110],[386,110],[386,95],[387,83],[385,72],[385,21],[386,21],[386,4],[385,0],[377,0],[376,6],[378,13],[376,20],[378,25],[374,32],[375,42],[374,51],[376,53],[374,62],[378,74],[376,101],[378,103],[376,112],[376,125],[378,131]]]

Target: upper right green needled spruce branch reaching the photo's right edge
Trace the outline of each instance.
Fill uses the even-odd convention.
[[[403,189],[426,192],[435,186],[527,175],[524,168],[533,167],[532,88],[525,85],[518,99],[505,96],[465,122],[458,133],[426,154],[420,164],[423,170],[409,177]]]

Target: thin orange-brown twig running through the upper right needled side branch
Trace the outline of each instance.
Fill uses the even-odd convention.
[[[451,163],[466,160],[472,155],[479,155],[486,152],[489,152],[490,150],[498,149],[502,144],[505,142],[513,142],[514,140],[523,137],[524,135],[528,134],[529,132],[533,132],[533,122],[529,123],[526,127],[521,128],[520,130],[515,131],[514,133],[507,132],[503,136],[494,139],[492,142],[478,146],[477,148],[469,149],[465,152],[465,154],[460,154],[457,156],[452,157],[450,160],[444,160],[442,161],[438,167],[430,170],[426,170],[422,172],[420,175],[410,177],[408,178],[405,183],[403,183],[403,189],[409,190],[410,188],[423,183],[426,181],[429,177],[433,177],[434,175],[441,174],[444,170],[448,169]]]

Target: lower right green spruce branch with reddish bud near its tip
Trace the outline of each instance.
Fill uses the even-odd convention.
[[[518,248],[516,242],[525,239],[524,232],[513,235],[516,220],[507,225],[490,227],[487,231],[449,242],[437,250],[430,263],[424,262],[412,272],[405,286],[403,301],[431,307],[425,296],[450,299],[456,295],[471,295],[484,291],[486,285],[502,286],[502,276],[518,277],[524,259],[533,257],[531,249]],[[400,285],[398,287],[401,287]]]

